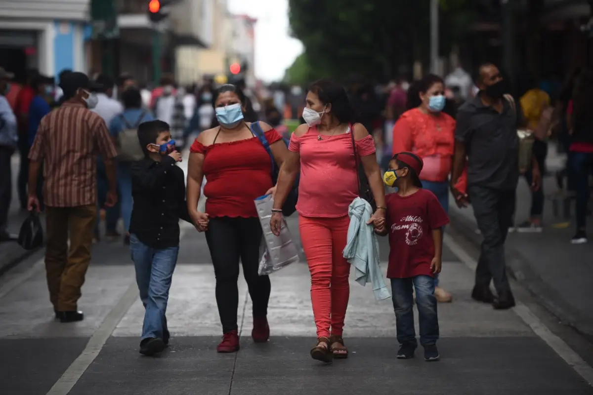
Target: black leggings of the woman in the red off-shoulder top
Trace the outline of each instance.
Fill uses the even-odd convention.
[[[257,274],[262,226],[258,218],[214,217],[206,241],[216,276],[216,304],[222,332],[237,330],[239,259],[253,302],[253,316],[265,317],[270,299],[270,278]]]

